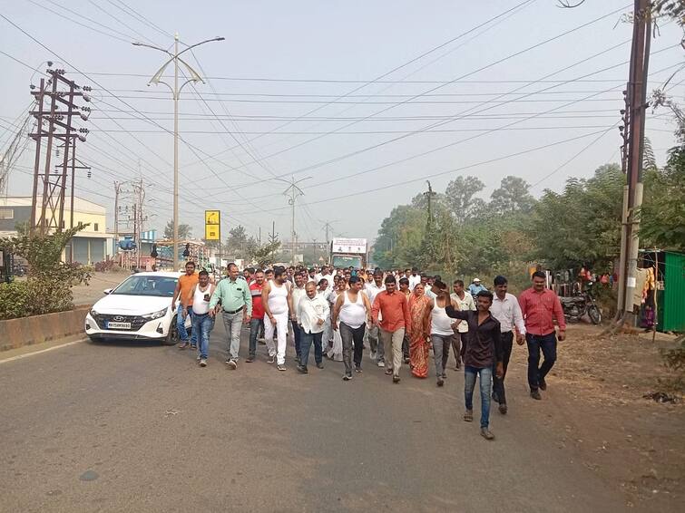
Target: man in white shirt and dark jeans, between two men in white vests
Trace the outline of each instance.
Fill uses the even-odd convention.
[[[307,363],[312,343],[314,343],[314,360],[317,363],[317,367],[323,369],[321,337],[323,336],[326,319],[330,316],[330,307],[328,306],[328,301],[317,294],[317,286],[309,282],[305,286],[305,295],[300,297],[296,308],[298,324],[302,327],[298,371],[306,374],[309,372]]]

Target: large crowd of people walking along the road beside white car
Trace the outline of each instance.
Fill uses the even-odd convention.
[[[258,357],[258,343],[266,344],[267,362],[286,371],[288,339],[294,344],[299,373],[307,374],[309,353],[324,368],[324,357],[344,363],[342,379],[362,373],[364,349],[372,363],[385,369],[392,382],[401,381],[400,369],[408,364],[416,378],[426,378],[433,352],[435,381],[447,378],[450,348],[455,370],[465,373],[465,421],[474,420],[476,379],[481,395],[481,434],[487,440],[490,402],[508,411],[504,378],[514,339],[528,347],[528,385],[535,400],[542,399],[545,377],[556,360],[557,340],[565,338],[565,321],[557,295],[546,287],[546,276],[533,273],[532,286],[518,298],[507,292],[504,276],[494,278],[493,290],[474,278],[469,286],[455,280],[451,287],[441,276],[420,274],[418,269],[383,271],[331,266],[307,268],[248,267],[240,273],[235,264],[214,284],[207,271],[196,272],[187,262],[173,295],[177,309],[180,349],[198,350],[198,363],[207,366],[210,332],[221,315],[227,336],[226,365],[238,369],[240,333],[250,328],[246,363]],[[451,290],[450,290],[451,289]],[[188,334],[185,319],[191,316]],[[557,328],[554,321],[558,324]],[[543,353],[543,363],[540,363]]]

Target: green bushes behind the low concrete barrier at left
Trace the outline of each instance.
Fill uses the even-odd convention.
[[[73,308],[72,286],[88,283],[90,268],[64,264],[62,252],[85,226],[51,235],[26,234],[0,238],[0,249],[24,257],[29,276],[25,282],[0,286],[0,319],[63,312]]]

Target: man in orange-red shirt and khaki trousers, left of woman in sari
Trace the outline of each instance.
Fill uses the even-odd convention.
[[[402,341],[405,332],[411,329],[411,316],[406,296],[397,291],[395,276],[386,276],[386,290],[376,295],[371,307],[373,325],[378,324],[378,313],[382,317],[380,322],[380,338],[385,346],[386,360],[392,354],[392,365],[386,362],[386,374],[393,376],[393,382],[399,382],[399,368],[402,366]]]

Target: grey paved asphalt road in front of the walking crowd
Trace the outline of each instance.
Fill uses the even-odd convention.
[[[520,369],[489,442],[461,420],[454,371],[443,389],[406,369],[394,385],[367,355],[352,382],[342,363],[279,373],[264,353],[229,371],[223,336],[217,324],[205,369],[151,344],[73,344],[0,363],[0,510],[627,509],[559,447],[545,427],[553,393],[531,401]]]

